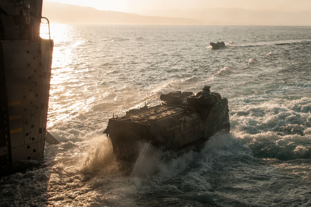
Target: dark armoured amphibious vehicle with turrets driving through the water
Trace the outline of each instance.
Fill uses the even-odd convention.
[[[202,143],[216,132],[230,131],[228,100],[210,92],[169,92],[162,104],[131,109],[125,116],[110,118],[109,135],[117,159],[136,161],[143,143],[178,150]]]

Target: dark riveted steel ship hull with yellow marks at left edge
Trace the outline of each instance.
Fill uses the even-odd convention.
[[[11,173],[19,161],[42,159],[47,133],[54,42],[40,38],[40,21],[34,24],[35,39],[21,35],[23,27],[12,18],[19,17],[22,3],[1,5],[18,15],[2,19],[6,33],[0,40],[0,175]],[[38,16],[41,8],[42,1],[31,3]]]

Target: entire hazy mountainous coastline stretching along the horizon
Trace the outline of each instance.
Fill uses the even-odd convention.
[[[60,24],[311,26],[311,14],[308,12],[203,8],[137,13],[100,11],[50,1],[44,1],[42,8],[42,16],[47,17],[50,23]]]

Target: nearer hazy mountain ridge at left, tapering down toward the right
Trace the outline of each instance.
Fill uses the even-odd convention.
[[[92,7],[49,1],[45,1],[43,4],[42,16],[47,17],[50,23],[63,24],[205,24],[188,18],[153,17],[126,12],[101,11]]]

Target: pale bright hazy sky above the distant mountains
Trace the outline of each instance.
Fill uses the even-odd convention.
[[[98,10],[135,12],[155,9],[238,7],[256,10],[311,12],[311,0],[43,0],[94,7]]]

